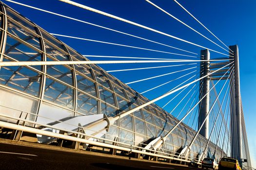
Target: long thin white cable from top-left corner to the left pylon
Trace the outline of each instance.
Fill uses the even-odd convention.
[[[111,28],[103,27],[103,26],[100,26],[100,25],[97,25],[97,24],[93,24],[93,23],[90,23],[90,22],[86,22],[86,21],[83,21],[83,20],[80,20],[80,19],[76,19],[76,18],[73,18],[73,17],[67,17],[67,16],[64,16],[64,15],[61,15],[61,14],[57,14],[57,13],[54,13],[54,12],[46,11],[46,10],[43,10],[43,9],[40,9],[40,8],[36,8],[34,6],[30,6],[30,5],[26,5],[26,4],[23,4],[23,3],[19,3],[19,2],[13,1],[13,0],[6,0],[6,1],[9,1],[9,2],[12,2],[12,3],[16,3],[16,4],[19,4],[19,5],[28,7],[28,8],[36,9],[36,10],[39,10],[39,11],[42,11],[42,12],[45,12],[45,13],[53,14],[53,15],[56,15],[56,16],[59,16],[59,17],[64,17],[64,18],[68,18],[68,19],[71,19],[71,20],[75,20],[75,21],[78,21],[78,22],[85,23],[85,24],[93,25],[93,26],[96,26],[96,27],[99,27],[99,28],[103,28],[103,29],[106,29],[106,30],[110,30],[110,31],[116,32],[116,33],[129,35],[129,36],[132,36],[132,37],[135,37],[135,38],[139,38],[139,39],[142,39],[142,40],[146,40],[146,41],[149,41],[149,42],[153,42],[153,43],[156,43],[156,44],[159,44],[159,45],[162,45],[162,46],[170,47],[170,48],[173,48],[173,49],[176,49],[176,50],[179,50],[179,51],[185,51],[185,52],[189,52],[189,53],[192,53],[192,54],[199,55],[199,54],[197,54],[195,52],[186,51],[186,50],[183,50],[183,49],[179,49],[177,47],[169,46],[167,44],[159,43],[157,41],[153,41],[153,40],[149,40],[149,39],[146,39],[146,38],[142,38],[142,37],[139,37],[139,36],[136,36],[136,35],[133,35],[133,34],[124,33],[124,32],[121,32],[121,31],[117,31],[117,30],[114,30],[114,29],[111,29]]]

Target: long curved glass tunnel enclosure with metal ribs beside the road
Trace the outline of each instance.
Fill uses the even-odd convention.
[[[2,3],[0,20],[0,61],[88,60]],[[38,129],[43,129],[40,124],[55,126],[60,121],[83,116],[105,114],[113,117],[149,101],[94,64],[0,67],[0,97],[1,121],[22,124],[15,118],[27,119],[31,122],[26,122],[25,126]],[[119,119],[100,137],[115,140],[119,142],[118,146],[137,149],[137,146],[167,134],[177,122],[175,117],[153,103]],[[195,134],[196,131],[181,123],[160,151],[178,155]],[[47,144],[57,140],[40,139],[40,136],[37,139]],[[109,140],[98,141],[113,144]],[[206,138],[198,136],[190,157],[198,158],[206,143]],[[214,150],[215,144],[210,142],[207,155],[212,156]],[[221,152],[217,147],[217,160]]]

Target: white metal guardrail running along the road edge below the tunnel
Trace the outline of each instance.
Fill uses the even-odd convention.
[[[9,109],[14,109],[14,108],[3,106],[3,105],[0,105],[0,106],[6,107],[6,108],[9,108]],[[21,110],[18,110],[18,109],[14,109],[14,110],[20,111],[21,114],[26,113],[27,115],[31,114],[31,115],[38,116],[38,117],[41,117],[41,118],[49,119],[49,118],[39,116],[39,115],[34,114],[34,113],[24,112],[24,111],[21,111]],[[51,137],[71,140],[71,141],[75,141],[75,142],[87,143],[87,144],[100,146],[100,147],[113,148],[113,149],[117,149],[117,150],[121,150],[121,151],[145,154],[145,155],[149,155],[149,156],[156,156],[156,157],[161,157],[161,158],[166,158],[166,159],[171,159],[171,160],[177,160],[177,161],[183,161],[183,162],[190,162],[192,159],[198,160],[195,157],[185,158],[185,157],[179,156],[180,158],[177,158],[177,157],[175,157],[177,155],[170,153],[170,152],[173,152],[173,151],[166,150],[166,149],[161,149],[161,150],[169,152],[169,153],[150,150],[150,149],[144,149],[143,147],[140,147],[140,146],[143,146],[145,144],[135,142],[135,141],[132,141],[132,140],[128,140],[128,139],[125,139],[125,138],[121,138],[121,137],[118,137],[118,138],[123,139],[123,140],[127,140],[127,141],[135,142],[135,143],[138,144],[138,146],[123,143],[123,142],[118,142],[116,140],[106,139],[106,138],[102,138],[102,137],[91,136],[91,135],[87,135],[87,134],[76,132],[76,131],[70,131],[70,130],[66,130],[66,129],[56,128],[56,127],[51,126],[51,125],[42,124],[42,123],[32,121],[32,120],[27,120],[26,119],[27,116],[25,117],[25,119],[22,119],[22,118],[17,118],[17,117],[13,117],[13,116],[10,116],[10,115],[0,113],[0,117],[5,117],[5,118],[8,118],[8,119],[14,119],[14,120],[17,120],[17,121],[23,121],[22,125],[0,121],[0,127],[4,127],[4,128],[10,128],[10,129],[29,132],[29,133],[38,134],[38,135],[51,136]],[[62,122],[62,121],[59,121],[59,120],[54,120],[54,121]],[[32,124],[47,127],[47,128],[50,128],[50,129],[55,129],[55,130],[64,131],[64,132],[67,132],[67,133],[76,134],[77,136],[80,136],[80,137],[67,136],[67,135],[62,135],[62,134],[58,134],[58,133],[54,133],[54,132],[49,132],[49,131],[44,131],[44,130],[41,130],[41,129],[28,127],[28,126],[25,126],[26,123],[32,123]],[[65,122],[62,122],[62,123],[65,123]],[[68,124],[68,123],[66,123],[66,124]],[[73,124],[69,124],[69,125],[72,125],[72,126],[78,128],[78,129],[79,128],[82,128],[82,129],[84,128],[84,127],[80,127],[78,125],[73,125]],[[109,134],[105,134],[105,135],[109,135]],[[94,140],[81,138],[82,136],[86,136],[87,138],[89,137],[89,138],[92,138]],[[112,135],[109,135],[109,136],[112,136]],[[117,136],[115,136],[115,137],[117,137]],[[99,141],[95,141],[95,140],[104,140],[104,141],[108,141],[108,142],[113,142],[115,144],[121,144],[121,145],[127,146],[127,148],[122,147],[122,146],[111,145],[111,144],[107,144],[107,143],[103,143],[103,142],[99,142]],[[129,147],[137,148],[138,150],[131,149]],[[200,164],[200,162],[198,162],[198,163]]]

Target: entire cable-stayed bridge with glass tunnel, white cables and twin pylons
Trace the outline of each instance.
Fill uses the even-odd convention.
[[[167,52],[183,59],[126,57],[133,60],[91,61],[1,3],[2,137],[162,161],[190,162],[196,159],[200,162],[204,157],[219,160],[223,156],[231,156],[238,159],[244,169],[251,167],[240,96],[237,45],[227,47],[216,37],[222,43],[220,46],[195,30],[226,51],[222,53],[70,0],[61,1],[205,50],[201,50],[199,55],[178,48],[186,54]],[[170,15],[153,2],[147,2]],[[111,31],[175,48],[137,35]],[[79,39],[61,34],[55,36]],[[210,52],[224,57],[211,58]],[[119,67],[123,63],[148,63],[154,67],[105,71],[97,65],[117,64]],[[169,65],[155,66],[159,63]],[[126,84],[110,74],[157,68],[170,68],[170,72]],[[168,82],[141,93],[128,86],[166,75],[172,76]],[[167,84],[171,88],[162,90],[162,94],[153,100],[142,95]],[[155,103],[164,98],[170,99],[164,106]],[[172,109],[167,112],[163,108],[169,103]]]

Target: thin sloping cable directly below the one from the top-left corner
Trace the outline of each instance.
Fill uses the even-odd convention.
[[[116,46],[121,46],[121,47],[129,47],[129,48],[140,49],[140,50],[155,51],[155,52],[162,52],[162,53],[167,53],[167,54],[174,54],[174,55],[179,55],[179,56],[186,56],[186,57],[197,58],[196,56],[192,56],[192,55],[178,54],[178,53],[167,52],[167,51],[159,51],[159,50],[153,50],[153,49],[147,49],[147,48],[141,48],[141,47],[124,45],[124,44],[111,43],[111,42],[106,42],[106,41],[98,41],[98,40],[94,40],[94,39],[80,38],[80,37],[76,37],[76,36],[69,36],[69,35],[62,35],[62,34],[53,34],[53,33],[50,33],[50,34],[57,35],[57,36],[62,36],[62,37],[67,37],[67,38],[73,38],[73,39],[80,39],[80,40],[85,40],[85,41],[98,42],[98,43],[103,43],[103,44],[111,44],[111,45],[116,45]]]

